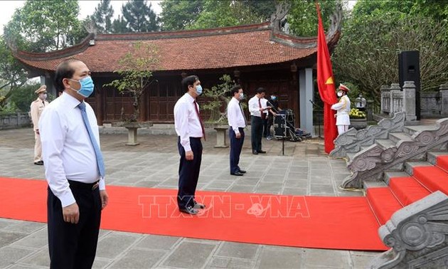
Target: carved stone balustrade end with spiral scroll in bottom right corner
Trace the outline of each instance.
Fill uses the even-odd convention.
[[[436,191],[400,209],[378,233],[391,249],[368,268],[447,268],[448,196]]]

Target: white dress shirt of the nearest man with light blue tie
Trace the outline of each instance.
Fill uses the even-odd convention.
[[[63,207],[75,203],[67,179],[82,183],[94,183],[100,179],[95,149],[82,120],[79,104],[75,97],[63,93],[50,102],[39,120],[46,179]],[[87,103],[85,109],[100,146],[95,112]],[[100,179],[102,189],[105,189],[104,179]]]

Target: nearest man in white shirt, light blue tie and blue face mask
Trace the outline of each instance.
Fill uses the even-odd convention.
[[[48,181],[50,268],[92,268],[101,211],[109,199],[97,120],[84,102],[94,85],[89,68],[76,59],[58,65],[54,84],[64,93],[39,121]]]

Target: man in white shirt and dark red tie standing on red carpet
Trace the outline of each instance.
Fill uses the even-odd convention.
[[[206,135],[196,102],[196,97],[202,93],[201,81],[196,75],[190,75],[182,80],[182,89],[186,93],[174,105],[174,126],[181,155],[177,204],[179,211],[196,215],[198,209],[206,207],[195,200],[202,160],[201,138],[205,139]]]

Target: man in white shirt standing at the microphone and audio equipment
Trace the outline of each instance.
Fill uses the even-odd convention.
[[[250,139],[252,140],[252,154],[266,153],[262,150],[263,124],[262,120],[266,118],[265,110],[270,110],[267,102],[263,99],[266,90],[258,88],[257,94],[249,100],[250,119]]]

